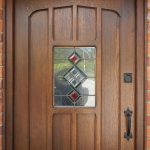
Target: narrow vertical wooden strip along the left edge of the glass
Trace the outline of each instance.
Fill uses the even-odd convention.
[[[48,35],[48,40],[49,40],[49,45],[48,45],[48,60],[49,61],[49,69],[48,69],[48,76],[51,77],[48,78],[48,87],[47,87],[47,120],[48,120],[48,123],[47,123],[47,130],[48,130],[48,133],[47,133],[47,150],[52,150],[53,149],[53,111],[52,111],[52,107],[53,107],[53,97],[51,95],[51,91],[53,93],[53,89],[52,89],[52,85],[53,85],[53,67],[52,67],[52,63],[53,63],[53,40],[54,40],[54,31],[53,31],[53,28],[54,28],[54,19],[53,19],[53,7],[50,7],[49,8],[49,19],[48,19],[48,22],[49,22],[49,35]],[[50,91],[51,90],[51,91]]]

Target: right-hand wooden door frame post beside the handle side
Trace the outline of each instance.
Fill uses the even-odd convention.
[[[136,0],[136,149],[145,147],[145,59],[148,0]]]

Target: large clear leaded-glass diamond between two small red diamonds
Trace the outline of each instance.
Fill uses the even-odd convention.
[[[86,75],[77,67],[73,67],[64,78],[75,88],[86,79]]]

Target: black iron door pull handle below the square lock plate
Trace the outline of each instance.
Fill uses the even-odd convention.
[[[124,138],[128,141],[132,139],[132,133],[131,133],[131,117],[132,117],[132,111],[128,108],[124,111],[125,118],[126,118],[126,128],[127,131],[124,133]]]

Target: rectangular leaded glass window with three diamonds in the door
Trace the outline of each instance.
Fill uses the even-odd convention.
[[[96,48],[54,47],[54,107],[95,107]]]

